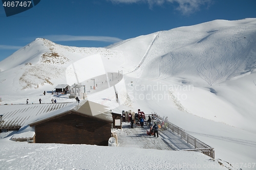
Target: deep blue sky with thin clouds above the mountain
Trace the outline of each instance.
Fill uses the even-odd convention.
[[[41,0],[6,17],[0,7],[0,61],[35,38],[82,47],[215,19],[256,18],[255,0]]]

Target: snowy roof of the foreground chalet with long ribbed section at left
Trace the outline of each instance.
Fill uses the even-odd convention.
[[[19,129],[12,138],[33,137],[34,128],[30,126],[72,111],[109,123],[113,122],[112,114],[106,106],[90,101],[81,101],[79,105],[78,103],[0,105],[0,110],[3,114],[0,129]]]

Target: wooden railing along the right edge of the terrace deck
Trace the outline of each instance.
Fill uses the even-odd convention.
[[[159,115],[157,115],[157,114],[154,114],[154,115],[158,119],[162,120],[162,118]],[[204,142],[200,141],[199,139],[189,135],[182,128],[180,128],[170,122],[168,122],[167,127],[169,128],[169,130],[176,132],[178,134],[178,136],[180,135],[181,139],[185,140],[187,143],[190,143],[191,145],[193,145],[195,147],[195,149],[187,149],[187,150],[182,150],[182,151],[201,151],[203,154],[205,154],[211,158],[215,158],[214,148],[209,147],[209,145],[207,145]]]

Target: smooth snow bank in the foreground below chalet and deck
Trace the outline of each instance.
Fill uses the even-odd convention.
[[[55,143],[4,144],[0,161],[1,169],[227,169],[198,152]]]

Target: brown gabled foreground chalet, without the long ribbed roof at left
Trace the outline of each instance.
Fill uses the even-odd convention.
[[[38,120],[30,124],[35,128],[34,142],[108,145],[112,114],[99,110],[104,110],[104,106],[87,101],[80,107]]]

